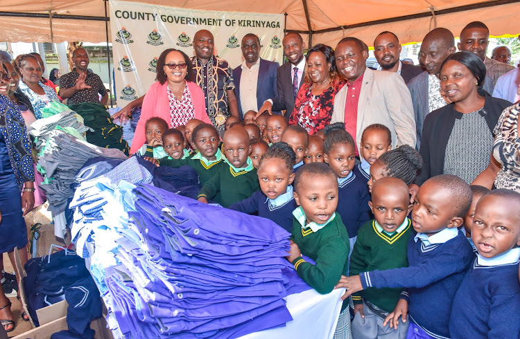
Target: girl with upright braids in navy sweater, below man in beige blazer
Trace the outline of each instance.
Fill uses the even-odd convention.
[[[350,248],[354,247],[358,229],[372,219],[368,201],[368,187],[365,178],[352,170],[356,163],[354,138],[345,131],[343,122],[336,122],[324,129],[324,161],[336,173],[339,187],[338,212],[347,227]]]

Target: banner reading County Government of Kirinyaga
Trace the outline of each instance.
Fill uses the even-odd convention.
[[[116,80],[117,104],[144,95],[155,82],[157,58],[167,48],[177,48],[189,57],[193,36],[206,29],[215,38],[214,54],[235,68],[243,62],[242,37],[248,33],[260,39],[260,57],[283,62],[281,39],[284,15],[218,12],[157,6],[148,3],[110,0],[110,27]]]

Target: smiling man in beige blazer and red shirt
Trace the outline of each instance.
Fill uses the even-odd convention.
[[[345,129],[356,139],[356,153],[363,130],[372,124],[390,129],[392,147],[415,147],[412,98],[401,75],[367,68],[368,53],[355,37],[341,39],[335,57],[347,84],[336,94],[331,123],[345,122]]]

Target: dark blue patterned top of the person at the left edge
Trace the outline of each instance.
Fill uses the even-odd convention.
[[[0,133],[6,142],[12,172],[21,192],[25,181],[34,181],[31,141],[17,104],[3,95],[0,95]]]

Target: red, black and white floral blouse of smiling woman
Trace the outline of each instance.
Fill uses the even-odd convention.
[[[312,86],[304,82],[298,91],[294,111],[289,118],[289,125],[300,125],[310,135],[318,133],[331,123],[336,93],[345,86],[345,82],[335,82],[320,95],[313,95]]]

